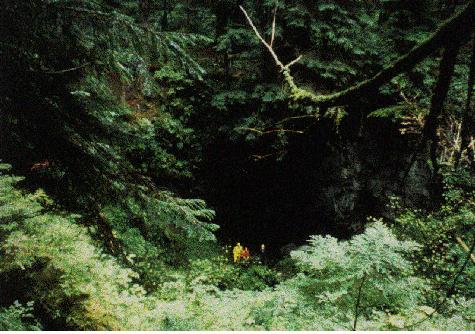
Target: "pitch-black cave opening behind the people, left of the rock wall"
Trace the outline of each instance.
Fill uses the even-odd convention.
[[[250,158],[255,148],[243,150],[242,143],[225,138],[215,143],[220,144],[213,145],[205,159],[203,170],[212,172],[203,177],[206,190],[201,196],[216,210],[215,222],[221,227],[217,236],[223,244],[240,242],[251,254],[264,244],[266,254],[277,259],[312,234],[351,236],[348,226],[337,224],[322,206],[322,185],[327,183],[322,157],[331,149],[326,136],[293,143],[281,161],[255,161]]]

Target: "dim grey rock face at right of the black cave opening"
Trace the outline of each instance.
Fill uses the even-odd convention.
[[[359,231],[369,215],[389,217],[387,204],[393,196],[410,206],[430,202],[430,169],[416,161],[403,182],[412,151],[404,138],[395,135],[369,132],[356,140],[346,139],[323,158],[316,201],[334,224]]]

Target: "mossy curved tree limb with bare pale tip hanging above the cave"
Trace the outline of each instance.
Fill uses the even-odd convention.
[[[377,91],[382,85],[388,83],[397,75],[410,71],[414,66],[422,60],[430,56],[433,52],[440,48],[446,47],[454,42],[463,43],[470,37],[475,26],[475,0],[471,0],[462,10],[445,21],[430,37],[415,46],[411,51],[401,56],[393,63],[386,66],[379,73],[368,80],[364,80],[350,88],[335,92],[328,95],[318,95],[297,86],[290,73],[290,67],[298,62],[301,57],[293,60],[289,64],[284,65],[275,53],[272,44],[259,33],[252,19],[246,10],[239,6],[246,16],[246,19],[254,30],[257,38],[267,48],[276,65],[282,71],[286,83],[290,87],[290,94],[293,100],[301,103],[311,103],[320,107],[342,106],[351,103],[363,96],[368,96]],[[273,26],[272,29],[275,29]],[[272,33],[274,35],[274,33]]]

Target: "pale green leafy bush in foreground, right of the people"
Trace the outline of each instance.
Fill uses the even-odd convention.
[[[305,250],[292,252],[300,273],[284,282],[277,289],[279,297],[264,308],[270,312],[265,327],[288,323],[298,326],[286,327],[293,330],[350,329],[357,303],[358,316],[366,320],[374,319],[375,312],[397,314],[412,308],[421,301],[423,287],[405,259],[415,248],[413,242],[397,240],[381,223],[350,241],[312,237]],[[256,312],[263,317],[265,311]],[[303,314],[312,316],[298,319]]]

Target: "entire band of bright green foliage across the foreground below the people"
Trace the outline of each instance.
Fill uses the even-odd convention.
[[[396,239],[381,222],[349,241],[313,236],[292,252],[298,273],[285,281],[258,262],[211,256],[182,270],[149,266],[153,286],[104,254],[78,217],[45,210],[44,192],[23,194],[21,178],[0,167],[0,284],[16,287],[12,302],[41,305],[0,310],[2,328],[39,329],[32,314],[42,312],[76,329],[334,330],[351,328],[356,314],[358,329],[473,329],[472,300],[450,299],[443,313],[426,306],[429,285],[408,258],[427,246]]]

